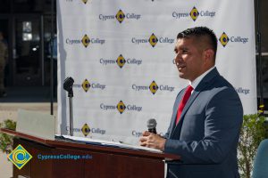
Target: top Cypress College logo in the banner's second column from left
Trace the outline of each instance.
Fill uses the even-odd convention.
[[[124,13],[121,9],[116,12],[115,15],[113,14],[99,14],[98,15],[99,20],[117,20],[119,23],[123,22],[123,20],[139,20],[141,19],[141,14],[133,13],[133,12],[127,12]]]

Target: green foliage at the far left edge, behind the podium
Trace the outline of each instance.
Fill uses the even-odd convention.
[[[16,122],[10,119],[4,120],[0,123],[1,128],[7,128],[11,130],[16,129]],[[13,136],[0,133],[0,149],[5,153],[10,153],[13,150]]]

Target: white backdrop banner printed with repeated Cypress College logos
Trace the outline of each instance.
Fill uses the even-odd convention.
[[[176,36],[196,26],[214,29],[216,67],[244,113],[256,112],[253,0],[58,0],[57,24],[62,134],[69,133],[66,77],[75,81],[74,135],[138,142],[149,118],[164,134],[175,97],[188,85],[172,61]]]

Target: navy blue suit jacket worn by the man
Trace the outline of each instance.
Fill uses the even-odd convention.
[[[176,98],[165,135],[164,152],[181,157],[168,162],[167,177],[239,177],[237,146],[243,109],[238,93],[212,69],[191,94],[175,125],[184,92]]]

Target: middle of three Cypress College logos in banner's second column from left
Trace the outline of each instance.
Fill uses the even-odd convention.
[[[104,59],[101,58],[99,60],[99,63],[102,64],[103,66],[107,65],[117,65],[120,69],[124,67],[124,65],[127,63],[128,65],[141,65],[142,60],[136,59],[136,58],[127,58],[125,59],[122,54],[120,54],[117,59]]]

